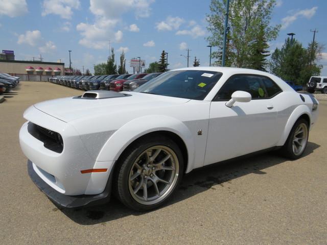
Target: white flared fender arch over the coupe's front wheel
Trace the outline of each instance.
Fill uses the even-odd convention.
[[[135,118],[118,129],[104,144],[97,161],[116,161],[123,151],[139,137],[156,132],[169,131],[184,142],[188,154],[186,173],[194,166],[195,143],[190,129],[180,120],[166,115],[148,115]]]

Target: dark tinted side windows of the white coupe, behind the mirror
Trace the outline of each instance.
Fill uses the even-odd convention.
[[[226,81],[214,100],[230,100],[231,94],[238,90],[249,92],[253,100],[267,99],[282,91],[275,82],[267,77],[237,75]]]

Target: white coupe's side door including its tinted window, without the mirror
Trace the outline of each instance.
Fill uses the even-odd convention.
[[[237,90],[249,92],[250,102],[225,104]],[[276,95],[282,90],[269,78],[230,77],[211,103],[204,165],[268,149],[276,144]]]

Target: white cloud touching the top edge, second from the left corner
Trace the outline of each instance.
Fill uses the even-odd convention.
[[[71,19],[73,9],[80,9],[79,0],[44,0],[42,8],[42,16],[48,14],[60,15],[63,19]]]

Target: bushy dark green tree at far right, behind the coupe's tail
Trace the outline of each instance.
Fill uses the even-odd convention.
[[[281,49],[276,48],[270,59],[270,71],[285,81],[293,81],[297,85],[306,85],[311,76],[320,75],[323,45],[309,43],[308,48],[293,38],[287,38]]]

